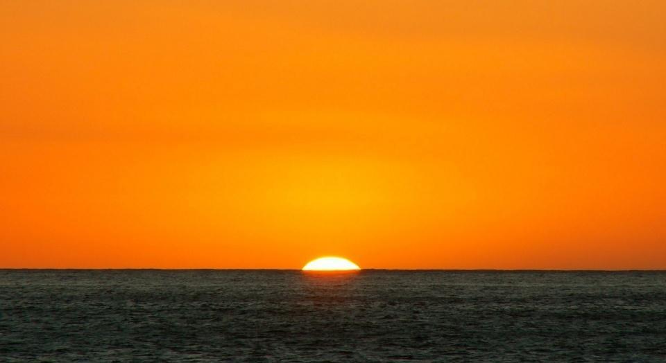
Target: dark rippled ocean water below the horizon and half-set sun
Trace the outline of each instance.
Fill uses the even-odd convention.
[[[0,362],[666,362],[666,272],[0,270]]]

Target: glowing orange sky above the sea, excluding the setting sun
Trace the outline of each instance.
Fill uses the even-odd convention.
[[[0,3],[0,267],[666,269],[663,0]]]

